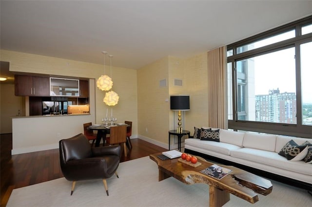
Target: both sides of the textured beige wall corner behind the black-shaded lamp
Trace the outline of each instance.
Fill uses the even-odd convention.
[[[167,87],[159,88],[161,79],[167,79]],[[181,79],[183,85],[174,86],[174,79]],[[170,95],[190,95],[190,111],[184,113],[185,130],[193,135],[194,126],[207,125],[206,53],[189,58],[168,56],[144,66],[137,72],[137,85],[138,133],[143,138],[153,139],[155,144],[168,148],[168,130],[177,127],[177,112],[174,114],[170,110]],[[166,98],[168,102],[164,101]]]

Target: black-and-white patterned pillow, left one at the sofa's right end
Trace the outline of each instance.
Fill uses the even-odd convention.
[[[278,152],[279,155],[286,157],[291,161],[302,160],[308,152],[307,145],[297,145],[293,140],[286,143],[286,145]]]

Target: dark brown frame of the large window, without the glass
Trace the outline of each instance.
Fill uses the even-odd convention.
[[[243,39],[241,41],[235,42],[227,46],[227,51],[232,50],[233,55],[227,57],[227,63],[232,65],[232,113],[233,120],[228,120],[228,128],[233,129],[234,131],[243,130],[251,132],[264,132],[264,133],[273,133],[281,135],[290,135],[298,137],[307,137],[312,138],[312,126],[302,125],[302,103],[301,103],[301,73],[300,73],[300,45],[312,42],[312,33],[301,35],[301,28],[307,24],[312,23],[312,16],[309,16],[304,19],[294,21],[292,23],[280,26],[278,28],[266,31],[264,33],[255,35],[250,38]],[[286,39],[280,42],[275,42],[270,45],[266,45],[260,48],[252,49],[243,53],[236,54],[236,48],[251,44],[255,41],[262,40],[265,38],[270,38],[272,36],[282,34],[287,31],[295,30],[295,37]],[[238,111],[237,111],[237,71],[236,71],[236,62],[260,56],[264,54],[273,53],[283,49],[294,47],[295,49],[295,70],[296,70],[296,124],[288,123],[272,123],[272,122],[260,122],[260,121],[243,121],[238,120]],[[228,53],[227,53],[228,54]],[[229,101],[230,102],[230,101]]]

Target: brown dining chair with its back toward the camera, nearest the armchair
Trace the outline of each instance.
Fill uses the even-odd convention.
[[[127,156],[127,125],[119,125],[110,127],[110,135],[106,137],[106,145],[123,145],[125,157]]]

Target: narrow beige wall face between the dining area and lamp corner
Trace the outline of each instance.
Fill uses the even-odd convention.
[[[137,70],[138,134],[168,143],[169,90],[159,87],[159,81],[168,81],[168,57]]]

